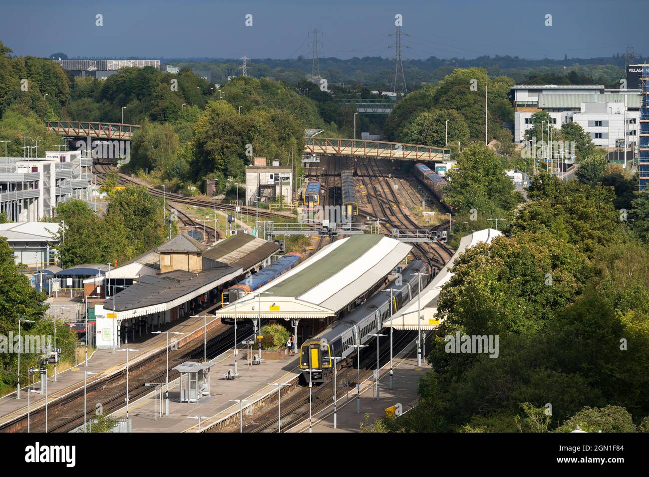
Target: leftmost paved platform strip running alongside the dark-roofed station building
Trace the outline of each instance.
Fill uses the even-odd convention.
[[[212,318],[214,319],[214,318]],[[208,317],[208,333],[209,333]],[[218,324],[219,321],[214,324]],[[160,327],[160,331],[177,331],[184,333],[182,336],[187,336],[191,332],[202,329],[204,320],[202,318],[187,318],[180,322],[170,323]],[[157,331],[157,330],[156,330]],[[129,340],[129,348],[137,349],[139,352],[129,353],[129,364],[132,365],[135,361],[141,360],[150,354],[165,349],[167,346],[166,334],[159,335],[145,335],[141,337],[138,333],[135,334],[135,341]],[[182,338],[181,335],[175,335],[176,339]],[[171,339],[171,336],[169,337]],[[122,347],[125,347],[123,344]],[[263,355],[262,355],[263,356]],[[84,371],[97,373],[96,375],[88,375],[88,384],[93,381],[123,369],[126,365],[126,353],[123,351],[112,352],[112,350],[96,350],[92,356],[88,356],[88,367],[84,366],[84,362],[80,361],[76,368],[67,369],[57,373],[56,382],[53,376],[47,381],[47,400],[52,402],[58,397],[66,395],[75,389],[83,387]],[[50,372],[53,372],[53,366],[49,366]],[[78,370],[78,371],[77,371]],[[40,389],[40,378],[37,379],[36,387],[32,389]],[[26,384],[26,383],[25,383]],[[10,421],[14,417],[27,414],[27,386],[21,388],[20,399],[16,399],[16,391],[5,395],[0,398],[0,423]],[[45,395],[32,393],[31,395],[31,410],[45,405]]]

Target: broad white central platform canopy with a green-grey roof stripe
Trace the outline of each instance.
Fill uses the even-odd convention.
[[[214,314],[271,319],[335,316],[388,275],[411,249],[406,243],[377,234],[339,239]]]

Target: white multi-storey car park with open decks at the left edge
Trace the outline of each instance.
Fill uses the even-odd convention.
[[[71,197],[88,200],[92,158],[80,151],[48,151],[44,158],[0,158],[0,212],[13,222],[52,217]]]

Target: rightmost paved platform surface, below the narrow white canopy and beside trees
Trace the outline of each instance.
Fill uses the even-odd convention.
[[[411,356],[408,352],[406,356]],[[386,417],[385,410],[397,403],[407,411],[417,403],[417,384],[419,378],[430,365],[422,362],[421,369],[417,369],[417,358],[399,358],[395,360],[393,387],[389,389],[389,367],[384,367],[380,373],[380,398],[375,399],[376,384],[374,378],[368,378],[361,384],[360,413],[356,413],[356,389],[349,391],[349,395],[337,395],[337,426],[334,429],[333,405],[313,415],[312,432],[360,432],[360,423],[369,414],[368,424],[373,424],[377,419]],[[349,400],[348,400],[349,399]],[[308,421],[302,422],[291,428],[288,432],[308,432]]]

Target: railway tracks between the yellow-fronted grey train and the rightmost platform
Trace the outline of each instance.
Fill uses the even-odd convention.
[[[397,354],[408,345],[416,336],[416,332],[396,332],[393,339],[393,354]],[[356,384],[365,380],[372,375],[376,369],[376,347],[371,345],[361,352],[360,376],[358,375],[356,357],[350,356],[345,361],[340,361],[339,371],[337,371],[336,384],[343,387],[337,390],[337,398],[342,393],[353,391]],[[390,347],[389,338],[379,342],[379,362],[384,365],[389,361]],[[295,387],[293,393],[282,399],[282,431],[290,430],[294,426],[308,420],[309,402],[311,400],[311,414],[315,414],[333,402],[334,380],[331,378],[320,385],[314,385],[311,399],[309,397],[309,387]],[[354,397],[355,398],[355,397]],[[278,415],[275,406],[269,406],[269,410],[263,412],[258,417],[254,417],[244,427],[244,432],[278,432]]]

